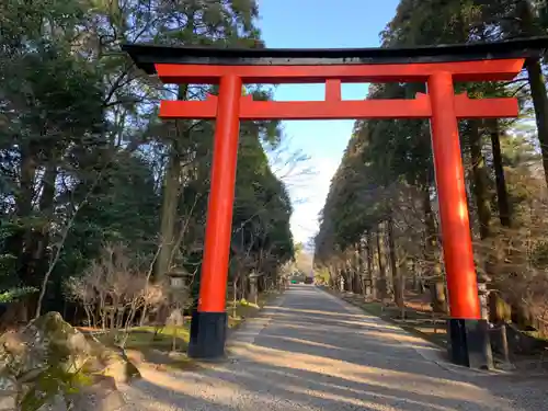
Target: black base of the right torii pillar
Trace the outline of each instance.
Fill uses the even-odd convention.
[[[452,318],[447,321],[447,351],[454,364],[476,369],[493,368],[487,320]]]

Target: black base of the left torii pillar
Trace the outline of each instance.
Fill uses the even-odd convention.
[[[222,359],[227,338],[226,312],[194,311],[191,321],[189,357],[196,359]]]

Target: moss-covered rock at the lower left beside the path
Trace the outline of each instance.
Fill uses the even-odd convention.
[[[78,401],[79,392],[104,386],[105,378],[115,385],[138,376],[122,350],[89,341],[58,312],[0,336],[0,404],[15,400],[23,411],[34,411],[57,403],[57,410]]]

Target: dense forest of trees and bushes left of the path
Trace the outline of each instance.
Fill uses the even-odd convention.
[[[157,110],[216,90],[164,87],[121,45],[262,47],[256,18],[254,0],[1,2],[0,302],[18,301],[3,326],[50,310],[91,321],[105,306],[135,316],[165,298],[173,276],[195,301],[214,124],[161,122]],[[236,297],[251,273],[274,286],[294,255],[292,205],[272,161],[284,147],[279,124],[242,124]]]

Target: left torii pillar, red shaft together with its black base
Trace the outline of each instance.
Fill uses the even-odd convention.
[[[189,355],[194,358],[219,357],[225,353],[241,87],[239,77],[227,75],[220,79],[198,309],[193,315],[189,344]]]

